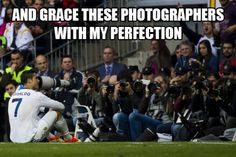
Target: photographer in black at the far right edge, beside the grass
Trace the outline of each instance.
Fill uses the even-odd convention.
[[[215,94],[208,95],[216,103],[212,104],[216,107],[220,107],[226,112],[225,124],[226,128],[223,129],[219,134],[214,134],[216,136],[205,136],[200,138],[200,141],[209,141],[209,140],[219,140],[219,141],[231,141],[236,131],[236,59],[233,58],[229,60],[223,66],[223,77],[220,80],[217,91]],[[216,128],[219,130],[219,128]],[[215,129],[215,130],[216,130]],[[223,134],[223,135],[222,135]]]

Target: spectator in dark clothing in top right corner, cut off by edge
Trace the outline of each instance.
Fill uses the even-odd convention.
[[[236,42],[236,2],[220,0],[224,8],[224,20],[220,22],[221,41],[231,40]]]

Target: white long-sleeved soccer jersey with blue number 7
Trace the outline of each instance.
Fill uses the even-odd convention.
[[[37,131],[38,113],[41,107],[52,108],[57,111],[64,110],[64,105],[52,100],[40,92],[23,89],[19,86],[8,103],[10,121],[10,139],[16,143],[32,141]]]

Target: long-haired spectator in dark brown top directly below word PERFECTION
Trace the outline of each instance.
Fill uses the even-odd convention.
[[[161,68],[171,67],[170,50],[166,46],[165,40],[151,41],[151,50],[153,55],[146,60],[146,67],[151,67],[154,70],[154,74],[158,74]]]

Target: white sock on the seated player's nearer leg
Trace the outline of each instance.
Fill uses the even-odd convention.
[[[39,120],[37,132],[34,136],[34,141],[41,141],[45,138],[50,129],[52,128],[53,124],[56,122],[57,119],[57,112],[55,111],[48,111],[42,119]]]

